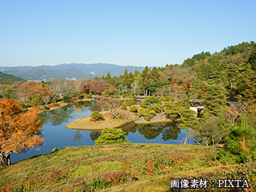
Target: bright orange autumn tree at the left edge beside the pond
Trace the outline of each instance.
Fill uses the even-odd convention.
[[[37,108],[23,112],[14,100],[0,100],[0,166],[11,164],[12,152],[24,153],[43,146],[39,112]]]

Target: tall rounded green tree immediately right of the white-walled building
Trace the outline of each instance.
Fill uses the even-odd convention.
[[[206,96],[206,108],[210,114],[217,116],[226,105],[225,88],[221,85],[209,85]]]

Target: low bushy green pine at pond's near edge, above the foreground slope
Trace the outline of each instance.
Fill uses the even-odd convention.
[[[102,130],[100,137],[95,140],[95,145],[129,143],[128,139],[124,139],[125,134],[122,129],[106,127]]]

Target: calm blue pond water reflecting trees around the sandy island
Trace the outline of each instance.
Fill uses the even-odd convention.
[[[80,117],[90,115],[92,111],[100,111],[94,102],[76,102],[56,110],[43,112],[40,119],[43,122],[43,137],[45,145],[39,150],[31,149],[24,154],[11,154],[11,163],[30,158],[40,154],[48,154],[54,148],[63,146],[94,145],[95,139],[100,137],[101,132],[68,129],[66,124],[78,118],[74,110],[82,108]],[[186,130],[178,129],[176,123],[158,124],[135,124],[128,123],[119,127],[127,132],[127,138],[131,143],[158,143],[158,144],[181,144],[186,137]],[[193,142],[193,141],[192,141]]]

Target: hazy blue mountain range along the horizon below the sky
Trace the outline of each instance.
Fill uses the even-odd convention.
[[[17,66],[17,67],[1,67],[0,70],[4,73],[15,75],[26,80],[53,80],[57,78],[95,78],[102,75],[119,76],[124,74],[127,69],[128,73],[134,73],[139,70],[142,73],[144,67],[136,66],[121,66],[107,63],[70,63],[61,65],[41,65],[41,66]]]

